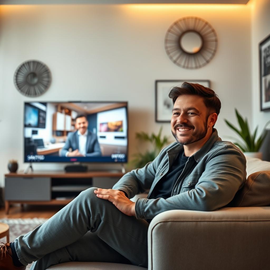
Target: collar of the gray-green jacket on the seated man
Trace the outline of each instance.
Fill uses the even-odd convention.
[[[199,149],[196,153],[194,153],[192,156],[194,156],[195,161],[198,163],[206,153],[209,152],[209,150],[212,148],[213,144],[217,141],[221,140],[220,137],[218,137],[218,132],[216,129],[213,128],[213,133],[210,136],[210,138],[207,140],[207,142]],[[170,148],[167,153],[168,154],[176,154],[180,151],[183,151],[183,145],[176,144],[172,148]]]

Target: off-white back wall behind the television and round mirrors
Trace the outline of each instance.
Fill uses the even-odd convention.
[[[222,102],[216,128],[223,139],[233,134],[223,119],[235,123],[235,107],[251,119],[247,5],[7,5],[0,12],[0,185],[9,159],[18,159],[20,169],[27,166],[23,101],[127,100],[129,157],[139,148],[135,132],[159,130],[156,79],[209,79]],[[167,29],[184,16],[205,19],[218,36],[215,57],[197,70],[176,66],[164,49]],[[44,62],[52,72],[49,90],[36,99],[22,96],[13,83],[14,71],[29,59]],[[174,140],[170,124],[163,124],[163,133]],[[36,170],[62,167],[34,164]]]

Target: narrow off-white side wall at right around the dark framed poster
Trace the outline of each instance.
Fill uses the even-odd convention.
[[[248,5],[251,6],[252,117],[254,126],[259,125],[261,131],[270,120],[270,110],[260,111],[259,79],[259,43],[270,34],[270,1],[252,0]]]

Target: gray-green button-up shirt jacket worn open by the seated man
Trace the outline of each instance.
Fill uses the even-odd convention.
[[[128,198],[153,188],[166,175],[183,146],[177,142],[164,148],[154,161],[125,174],[113,189],[123,190]],[[216,129],[204,146],[188,158],[167,199],[139,198],[137,218],[152,219],[175,209],[213,211],[227,205],[246,181],[246,160],[233,143],[222,141]],[[148,195],[148,197],[149,197]]]

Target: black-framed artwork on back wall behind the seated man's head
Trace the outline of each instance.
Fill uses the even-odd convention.
[[[172,87],[181,86],[183,82],[199,83],[210,87],[209,80],[156,80],[156,122],[171,122],[173,102],[169,98],[169,93]]]

